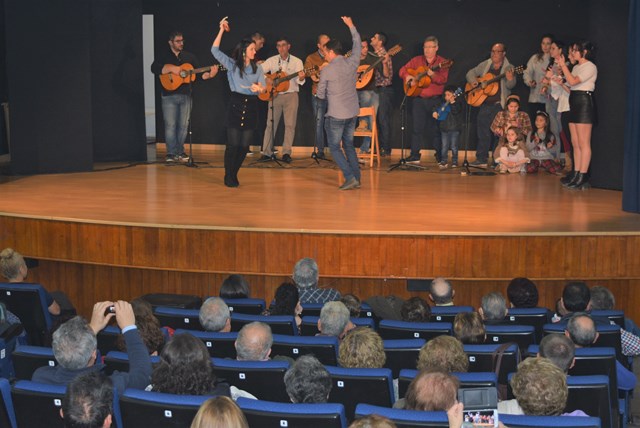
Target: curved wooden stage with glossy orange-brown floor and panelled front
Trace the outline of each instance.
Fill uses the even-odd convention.
[[[195,147],[199,168],[0,177],[0,246],[38,259],[31,279],[75,295],[83,312],[115,295],[215,294],[231,272],[271,299],[308,256],[325,285],[361,297],[416,294],[406,278],[445,276],[457,303],[477,306],[485,291],[528,276],[549,305],[567,279],[588,279],[640,316],[640,216],[621,210],[621,192],[567,190],[546,172],[462,176],[426,152],[428,169],[388,172],[399,150],[363,166],[361,189],[340,191],[339,169],[305,148],[282,168],[247,157],[240,187],[227,188],[222,154]]]

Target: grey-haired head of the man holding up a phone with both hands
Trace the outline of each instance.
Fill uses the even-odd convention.
[[[53,333],[53,355],[68,370],[87,367],[97,345],[95,333],[80,316],[71,318]]]

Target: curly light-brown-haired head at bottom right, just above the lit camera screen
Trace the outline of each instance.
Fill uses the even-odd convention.
[[[546,358],[524,360],[510,383],[525,415],[558,416],[567,405],[566,375]]]

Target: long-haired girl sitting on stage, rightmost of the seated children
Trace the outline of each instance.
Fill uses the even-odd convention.
[[[527,165],[527,172],[534,174],[542,167],[551,174],[558,174],[562,170],[558,158],[560,144],[555,135],[549,131],[549,115],[543,111],[536,113],[535,130],[527,136],[527,150],[531,162]]]

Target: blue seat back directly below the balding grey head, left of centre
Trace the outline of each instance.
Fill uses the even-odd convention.
[[[284,385],[286,361],[237,361],[213,358],[213,371],[220,379],[258,398],[289,403]]]

